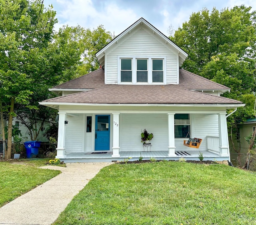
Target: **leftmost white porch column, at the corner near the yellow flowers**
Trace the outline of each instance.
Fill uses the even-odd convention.
[[[58,112],[59,114],[59,126],[58,126],[58,147],[56,158],[66,158],[65,155],[65,120],[66,113]]]

